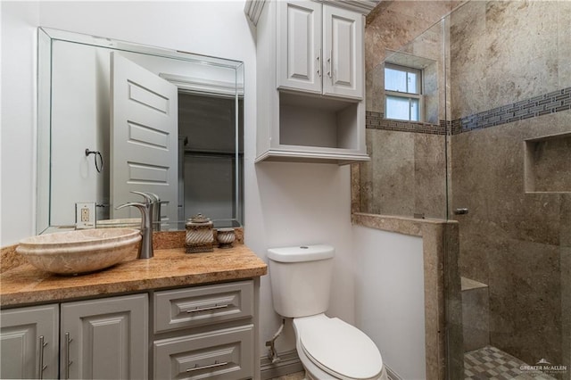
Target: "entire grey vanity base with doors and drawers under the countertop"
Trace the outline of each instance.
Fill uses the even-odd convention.
[[[245,280],[0,310],[0,377],[257,379],[259,286]]]

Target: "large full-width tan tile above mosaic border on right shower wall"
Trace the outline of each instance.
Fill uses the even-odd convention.
[[[557,2],[486,2],[487,108],[558,88],[558,7]]]

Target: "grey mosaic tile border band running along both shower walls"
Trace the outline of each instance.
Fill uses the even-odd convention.
[[[536,118],[554,112],[571,110],[571,87],[563,88],[543,95],[537,95],[517,103],[502,105],[484,112],[446,121],[440,124],[419,123],[413,121],[386,120],[383,112],[365,114],[365,125],[370,129],[394,130],[401,132],[426,133],[430,135],[450,135],[469,132],[476,129],[496,127],[513,121]]]

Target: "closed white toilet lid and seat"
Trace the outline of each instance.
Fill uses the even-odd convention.
[[[325,314],[294,318],[303,352],[328,374],[345,380],[377,379],[383,359],[377,345],[358,328]]]

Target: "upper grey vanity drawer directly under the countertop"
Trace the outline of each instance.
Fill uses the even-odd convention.
[[[154,293],[155,333],[252,315],[252,281]]]

